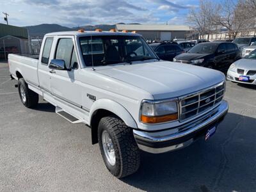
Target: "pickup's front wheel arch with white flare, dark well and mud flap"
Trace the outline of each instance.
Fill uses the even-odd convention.
[[[89,114],[90,127],[92,129],[92,144],[98,143],[97,127],[100,119],[104,116],[111,115],[120,118],[128,127],[137,128],[134,118],[132,118],[131,114],[124,108],[124,106],[110,99],[96,100],[93,103]]]

